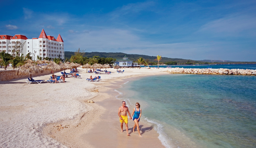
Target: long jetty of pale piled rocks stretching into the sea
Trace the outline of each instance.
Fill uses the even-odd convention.
[[[256,70],[251,69],[200,69],[200,68],[170,68],[169,73],[186,73],[186,74],[212,74],[212,75],[256,75]]]

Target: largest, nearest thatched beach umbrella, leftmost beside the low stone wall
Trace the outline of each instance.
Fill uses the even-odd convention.
[[[32,74],[42,73],[43,71],[43,68],[41,68],[40,66],[32,63],[27,63],[17,69],[16,75],[30,75],[30,80],[32,80]]]

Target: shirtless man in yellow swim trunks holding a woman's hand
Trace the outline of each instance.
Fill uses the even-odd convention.
[[[130,134],[128,134],[128,116],[127,116],[127,112],[128,112],[128,115],[130,116],[130,120],[132,119],[132,117],[130,115],[130,111],[129,111],[128,107],[125,106],[125,105],[126,105],[126,102],[123,101],[122,106],[119,107],[118,116],[119,116],[120,122],[121,122],[121,132],[123,132],[123,122],[124,122],[127,135],[130,136]]]

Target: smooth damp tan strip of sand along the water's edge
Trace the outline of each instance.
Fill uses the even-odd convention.
[[[154,74],[155,75],[155,74]],[[158,74],[157,74],[158,75]],[[146,75],[146,76],[151,76]],[[67,147],[164,147],[158,139],[159,134],[154,130],[154,124],[142,119],[140,121],[140,129],[142,138],[138,136],[137,131],[132,132],[134,125],[133,120],[128,120],[128,133],[124,129],[121,133],[120,122],[117,116],[118,108],[121,101],[116,98],[119,93],[115,91],[121,87],[121,84],[134,80],[140,76],[127,76],[118,80],[110,79],[99,84],[94,90],[99,93],[94,98],[89,99],[95,103],[89,103],[93,107],[85,114],[80,114],[81,118],[76,126],[68,126],[58,130],[58,125],[67,127],[73,120],[63,121],[60,123],[52,123],[44,128],[43,133],[57,141],[65,144]],[[132,113],[133,108],[129,109]]]

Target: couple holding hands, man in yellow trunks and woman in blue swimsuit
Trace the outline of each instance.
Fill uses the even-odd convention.
[[[118,116],[119,116],[120,122],[121,122],[121,132],[123,132],[123,122],[124,122],[125,123],[125,128],[126,128],[126,133],[127,133],[128,136],[130,136],[130,134],[128,133],[128,116],[127,116],[127,112],[128,112],[128,115],[130,116],[130,120],[132,119],[132,116],[134,114],[133,121],[134,121],[135,124],[133,126],[133,132],[135,132],[134,129],[135,129],[136,126],[137,126],[137,131],[139,132],[139,119],[141,117],[142,110],[141,110],[140,105],[139,105],[138,102],[135,104],[135,108],[133,109],[132,116],[130,115],[130,111],[129,111],[128,107],[126,106],[126,102],[125,101],[123,101],[122,102],[122,106],[119,107]],[[142,137],[140,133],[139,133],[139,136]]]

